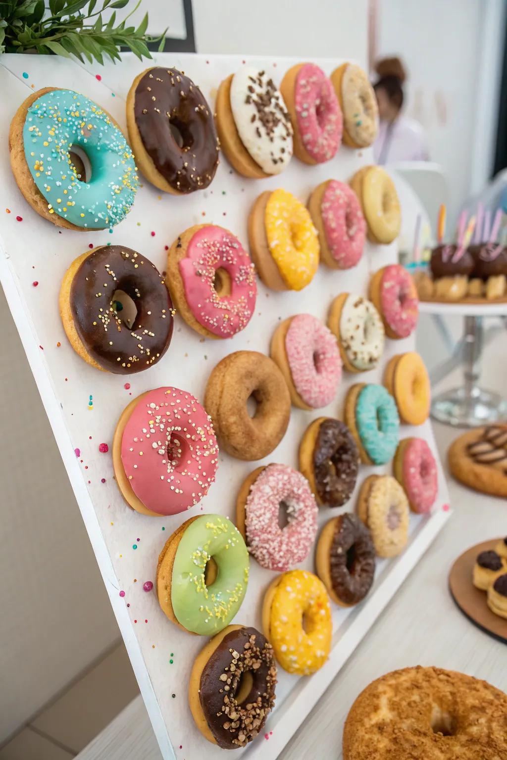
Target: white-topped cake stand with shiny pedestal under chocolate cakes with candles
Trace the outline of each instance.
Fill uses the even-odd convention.
[[[497,393],[480,388],[480,359],[483,352],[485,317],[507,316],[507,303],[466,304],[420,302],[423,314],[463,317],[464,330],[458,350],[464,363],[463,385],[433,399],[435,420],[456,427],[478,427],[507,420],[507,401]]]

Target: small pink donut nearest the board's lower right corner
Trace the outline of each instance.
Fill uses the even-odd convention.
[[[395,454],[395,478],[401,483],[410,509],[418,514],[429,512],[438,491],[436,461],[422,438],[405,438]]]

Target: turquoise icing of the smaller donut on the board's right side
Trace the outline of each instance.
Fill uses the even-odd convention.
[[[383,385],[365,385],[356,401],[356,428],[373,464],[385,464],[395,456],[400,418],[395,399]]]

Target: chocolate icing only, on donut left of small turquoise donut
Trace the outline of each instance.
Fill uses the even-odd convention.
[[[359,452],[347,425],[324,420],[313,451],[315,488],[322,504],[341,507],[356,485]]]

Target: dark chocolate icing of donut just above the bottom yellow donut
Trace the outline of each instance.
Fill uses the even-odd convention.
[[[375,547],[356,515],[336,519],[329,564],[331,586],[342,604],[357,604],[366,597],[375,575]]]

